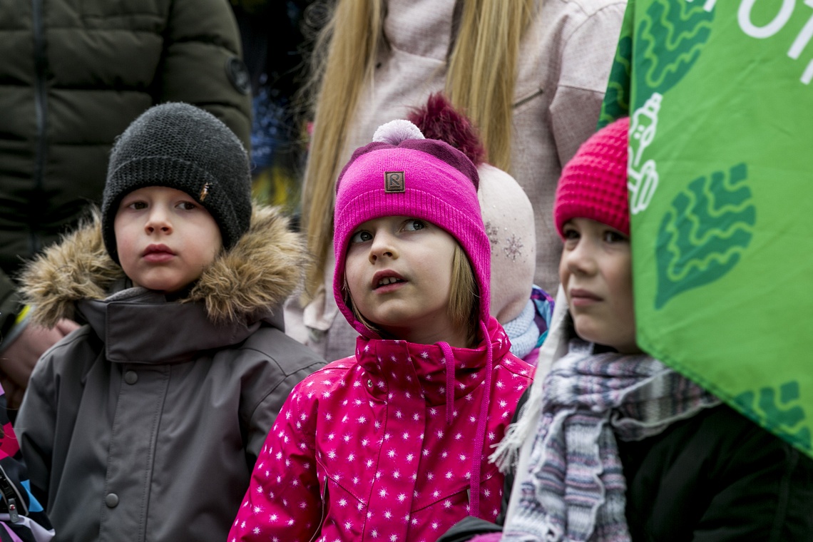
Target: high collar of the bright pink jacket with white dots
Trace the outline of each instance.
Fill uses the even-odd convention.
[[[506,332],[496,319],[488,323],[488,340],[494,359],[511,348]],[[485,379],[488,362],[484,340],[473,349],[451,348],[454,364],[454,399],[467,397]],[[430,406],[446,403],[446,367],[448,360],[440,344],[420,345],[406,340],[356,340],[356,359],[370,381],[372,395],[385,398],[390,388],[422,395]]]

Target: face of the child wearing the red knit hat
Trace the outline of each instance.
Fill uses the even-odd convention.
[[[564,224],[559,280],[576,333],[621,353],[640,352],[635,343],[633,273],[629,238],[591,219]]]

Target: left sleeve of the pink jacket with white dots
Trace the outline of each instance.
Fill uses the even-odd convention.
[[[315,430],[318,403],[293,389],[259,453],[228,540],[307,542],[320,527]],[[324,483],[324,479],[321,480]]]

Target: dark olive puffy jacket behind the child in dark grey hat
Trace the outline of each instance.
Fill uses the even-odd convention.
[[[98,202],[112,141],[133,119],[159,102],[189,102],[248,145],[250,85],[227,0],[21,0],[0,3],[0,20],[6,319],[21,258]]]

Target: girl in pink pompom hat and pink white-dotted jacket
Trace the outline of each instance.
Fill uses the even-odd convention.
[[[333,293],[354,357],[294,388],[228,540],[435,540],[493,519],[485,462],[530,382],[489,317],[477,173],[406,120],[356,150],[337,183]]]

